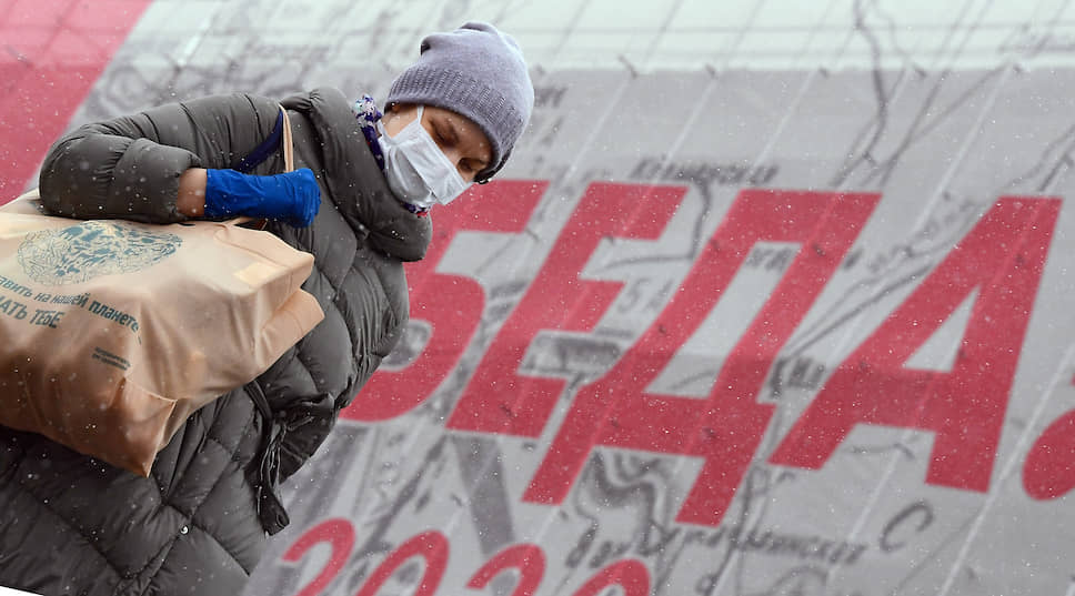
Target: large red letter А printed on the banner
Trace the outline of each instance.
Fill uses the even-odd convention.
[[[1061,202],[1002,198],[832,375],[773,454],[820,468],[858,423],[932,431],[926,482],[985,492]],[[952,372],[904,366],[975,290]]]

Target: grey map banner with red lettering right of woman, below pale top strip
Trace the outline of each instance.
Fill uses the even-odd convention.
[[[248,594],[1075,589],[1071,73],[539,85]]]

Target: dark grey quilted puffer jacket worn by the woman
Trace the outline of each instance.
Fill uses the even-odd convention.
[[[303,287],[324,321],[254,383],[191,416],[148,478],[0,427],[0,586],[238,594],[267,534],[288,523],[277,482],[317,451],[395,345],[409,312],[402,261],[422,259],[430,221],[391,194],[340,91],[282,104],[295,166],[317,174],[321,209],[309,228],[267,229],[313,253]],[[181,221],[179,175],[234,165],[271,133],[278,111],[272,100],[235,94],[88,124],[52,147],[42,200],[73,218]],[[278,151],[252,173],[282,170]]]

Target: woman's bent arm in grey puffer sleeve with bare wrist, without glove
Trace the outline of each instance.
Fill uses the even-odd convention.
[[[41,200],[79,219],[151,223],[204,213],[208,169],[228,169],[271,132],[279,104],[213,95],[86,124],[58,140],[41,168]],[[282,170],[267,160],[254,173]]]

